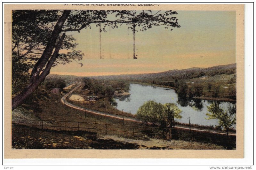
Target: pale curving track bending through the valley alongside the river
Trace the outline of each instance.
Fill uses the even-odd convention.
[[[61,102],[62,102],[63,104],[66,104],[68,107],[71,107],[71,108],[74,108],[74,109],[77,109],[77,110],[85,111],[84,108],[79,107],[79,106],[76,106],[76,105],[74,105],[74,104],[71,104],[71,103],[69,103],[69,102],[66,100],[66,98],[67,98],[73,91],[75,91],[76,89],[78,89],[82,84],[83,84],[83,83],[78,84],[78,86],[76,86],[74,89],[72,89],[70,92],[68,92],[65,96],[63,96],[63,97],[61,98]],[[108,114],[108,113],[97,112],[97,111],[93,111],[93,110],[90,110],[90,109],[86,109],[86,112],[93,113],[93,114],[98,114],[98,115],[101,115],[101,116],[107,116],[107,117],[111,117],[111,118],[123,120],[123,117],[118,116],[118,115],[112,115],[112,114]],[[132,118],[124,118],[124,120],[142,123],[142,121],[136,120],[136,119],[132,119]],[[175,127],[176,127],[176,128],[180,128],[180,129],[188,129],[188,130],[189,130],[189,128],[185,128],[185,127],[180,127],[180,126],[175,126]],[[223,132],[215,132],[215,131],[201,130],[201,129],[195,129],[195,128],[191,128],[191,130],[193,130],[193,131],[203,131],[203,132],[209,132],[209,133],[215,133],[215,134],[226,134],[226,133],[223,133]],[[228,135],[235,135],[235,136],[236,136],[236,134],[234,134],[234,133],[229,133]]]

